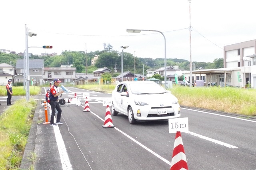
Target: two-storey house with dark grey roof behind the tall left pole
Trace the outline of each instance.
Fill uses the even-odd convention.
[[[44,59],[29,59],[28,67],[30,80],[32,81],[32,83],[34,85],[43,84]],[[24,73],[26,73],[24,59],[17,59],[14,83],[24,82],[24,78],[26,78],[24,77]]]

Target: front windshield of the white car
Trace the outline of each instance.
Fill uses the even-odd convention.
[[[159,94],[167,91],[156,83],[135,83],[130,84],[130,91],[133,94]]]

